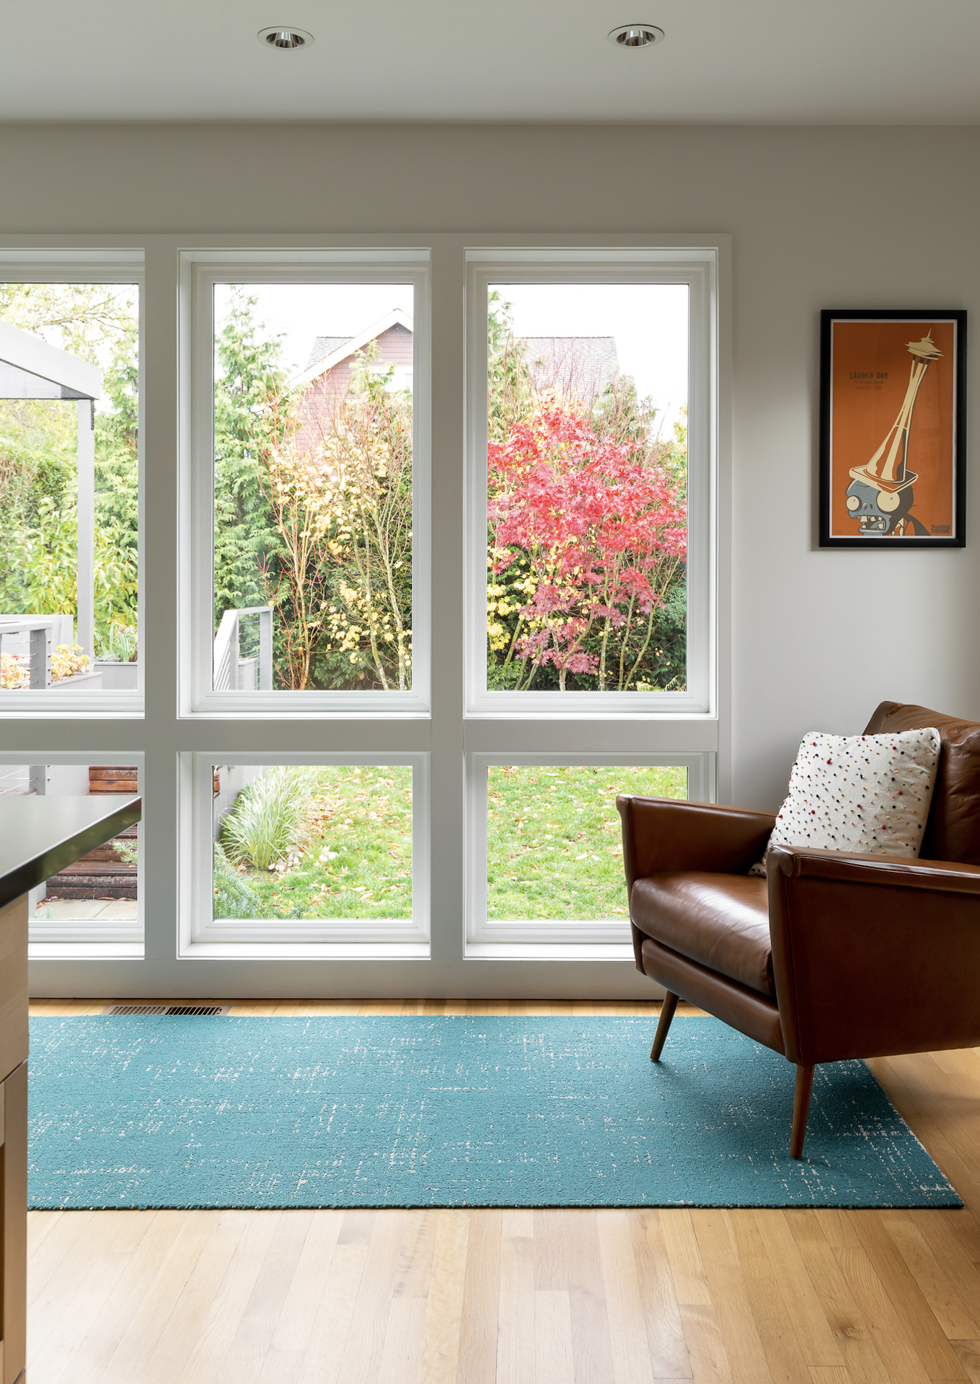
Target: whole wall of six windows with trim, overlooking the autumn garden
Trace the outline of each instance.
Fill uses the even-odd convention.
[[[710,800],[724,745],[724,249],[504,241],[155,235],[145,292],[0,246],[11,302],[129,314],[6,347],[7,768],[147,787],[136,898],[35,908],[50,994],[630,992],[613,787]]]

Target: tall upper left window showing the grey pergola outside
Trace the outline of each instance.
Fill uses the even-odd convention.
[[[0,255],[0,714],[141,704],[140,280]]]

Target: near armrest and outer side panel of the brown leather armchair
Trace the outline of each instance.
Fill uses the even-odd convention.
[[[980,1042],[980,868],[771,847],[786,1056],[808,1066]]]

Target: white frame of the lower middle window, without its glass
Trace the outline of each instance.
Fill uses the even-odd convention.
[[[212,794],[216,764],[248,765],[411,765],[412,770],[412,916],[410,919],[215,919]],[[180,756],[181,857],[184,907],[180,956],[429,956],[429,756],[389,753],[256,753],[244,749],[187,752]]]

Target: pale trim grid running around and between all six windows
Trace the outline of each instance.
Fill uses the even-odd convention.
[[[271,255],[277,259],[307,259],[323,246],[343,251],[353,241],[359,246],[379,251],[392,245],[417,246],[432,256],[433,302],[437,313],[432,320],[433,361],[433,512],[440,527],[440,543],[433,558],[433,617],[450,631],[448,644],[436,657],[439,677],[433,685],[433,716],[365,718],[350,714],[346,720],[324,718],[313,731],[317,746],[342,746],[345,750],[374,752],[379,746],[410,747],[421,752],[432,749],[432,835],[433,877],[432,948],[403,949],[394,945],[365,958],[356,949],[345,951],[339,944],[318,952],[309,947],[281,947],[274,954],[263,944],[209,948],[199,944],[192,952],[180,952],[180,931],[174,911],[187,918],[180,862],[184,858],[185,818],[179,822],[179,757],[184,752],[208,745],[215,760],[248,761],[245,746],[263,743],[264,747],[302,750],[310,743],[311,722],[303,717],[263,720],[198,717],[198,728],[181,714],[181,686],[179,659],[183,656],[177,641],[177,619],[184,619],[185,590],[181,580],[187,573],[188,554],[179,547],[179,502],[185,501],[183,479],[177,484],[177,462],[190,455],[185,432],[190,399],[190,376],[184,339],[180,335],[187,322],[179,314],[180,281],[177,268],[185,252],[191,256],[210,252],[217,260],[228,260],[228,245],[242,248],[245,257]],[[32,951],[32,991],[43,995],[90,995],[114,998],[148,995],[185,996],[269,996],[277,995],[332,995],[356,1001],[359,996],[408,995],[494,998],[509,995],[515,999],[533,996],[574,998],[583,994],[606,999],[644,999],[653,991],[649,980],[638,976],[628,945],[496,945],[472,944],[464,954],[462,931],[462,747],[475,752],[504,749],[504,758],[514,761],[514,746],[525,752],[570,752],[580,760],[579,746],[590,750],[606,747],[610,752],[637,747],[649,752],[717,750],[718,797],[732,797],[732,706],[731,706],[731,522],[732,522],[732,238],[725,233],[700,231],[692,234],[651,233],[623,230],[613,233],[540,233],[540,231],[404,231],[390,219],[379,231],[353,235],[350,231],[289,231],[239,233],[234,227],[224,231],[191,228],[176,234],[152,231],[148,234],[36,234],[8,233],[0,245],[18,257],[35,255],[37,246],[48,246],[54,253],[76,253],[76,248],[91,246],[90,256],[105,246],[119,246],[114,253],[145,252],[147,263],[147,318],[149,322],[144,352],[145,388],[145,447],[152,457],[147,468],[145,498],[154,512],[154,523],[143,534],[141,595],[148,597],[154,619],[152,644],[147,644],[147,720],[123,721],[112,713],[118,725],[108,727],[91,716],[89,703],[84,714],[65,716],[62,721],[46,721],[39,713],[33,727],[25,722],[11,736],[33,746],[46,745],[47,753],[60,754],[61,746],[83,749],[96,757],[119,757],[145,752],[147,794],[144,797],[144,825],[152,823],[148,839],[145,891],[145,959],[125,944],[76,945],[58,952],[47,952],[42,944]],[[468,248],[490,252],[500,259],[504,253],[554,248],[563,252],[613,246],[627,253],[651,246],[662,249],[707,248],[718,262],[718,310],[713,322],[714,354],[718,361],[718,489],[717,489],[717,563],[713,566],[713,587],[720,581],[718,609],[718,696],[713,714],[642,716],[635,703],[617,714],[579,717],[573,709],[566,717],[504,718],[493,716],[464,717],[464,662],[460,627],[462,623],[462,516],[464,472],[460,465],[464,439],[464,299],[465,263]],[[502,249],[500,249],[502,248]],[[183,410],[183,412],[181,412]],[[183,429],[183,430],[181,430]],[[144,577],[148,570],[148,577]],[[149,638],[149,637],[147,637]],[[435,656],[435,655],[433,655]],[[435,736],[433,736],[435,732]],[[94,746],[94,749],[93,749]],[[87,747],[87,749],[86,749]],[[393,753],[393,750],[392,750]],[[14,756],[22,758],[18,752]],[[280,756],[281,757],[281,756]],[[390,754],[388,756],[390,757]],[[608,756],[604,756],[608,757]],[[673,756],[670,756],[673,757]],[[131,760],[130,760],[131,763]],[[177,886],[181,882],[181,893]],[[370,965],[365,960],[370,959]],[[475,960],[483,965],[475,965]],[[581,960],[588,960],[583,972]],[[219,962],[220,965],[213,965]],[[518,962],[520,965],[518,965]]]

